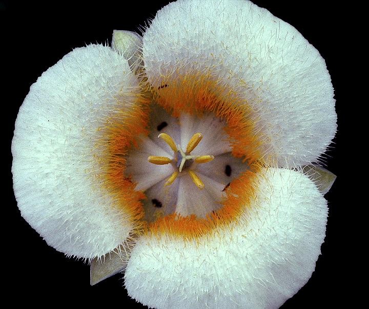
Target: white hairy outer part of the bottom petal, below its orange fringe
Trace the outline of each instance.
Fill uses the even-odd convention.
[[[311,277],[327,206],[304,174],[264,169],[238,223],[183,240],[142,236],[125,273],[128,294],[163,308],[278,308]]]

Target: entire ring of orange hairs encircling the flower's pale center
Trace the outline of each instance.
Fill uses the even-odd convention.
[[[261,138],[255,133],[255,120],[247,102],[239,100],[232,91],[214,82],[206,75],[191,75],[178,78],[176,84],[165,83],[165,87],[153,92],[153,97],[137,94],[134,103],[120,102],[114,116],[109,116],[101,139],[97,143],[98,163],[101,166],[101,183],[113,194],[116,207],[121,207],[134,224],[134,233],[149,232],[159,235],[170,233],[186,239],[200,237],[217,226],[237,220],[244,207],[250,205],[257,186],[257,172],[262,166],[259,146]],[[153,223],[144,221],[144,207],[141,200],[146,195],[135,191],[127,175],[126,155],[132,146],[137,146],[140,135],[147,135],[150,102],[156,102],[174,117],[189,113],[201,117],[211,112],[227,122],[226,133],[230,138],[233,155],[244,158],[249,170],[233,180],[227,188],[223,207],[206,218],[195,215],[182,217],[170,214]],[[114,206],[113,206],[114,207]]]

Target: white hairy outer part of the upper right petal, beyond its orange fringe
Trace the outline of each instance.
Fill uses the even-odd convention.
[[[143,38],[148,80],[210,72],[247,102],[265,158],[279,167],[319,162],[336,133],[330,75],[291,25],[244,0],[178,0]]]

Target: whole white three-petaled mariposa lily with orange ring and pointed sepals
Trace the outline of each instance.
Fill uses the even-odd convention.
[[[325,236],[336,133],[324,59],[244,0],[179,0],[31,86],[14,192],[47,243],[154,308],[277,308]]]

